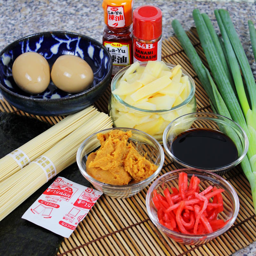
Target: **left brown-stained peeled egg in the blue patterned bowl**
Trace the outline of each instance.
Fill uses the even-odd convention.
[[[47,60],[37,52],[25,52],[14,60],[12,76],[21,90],[38,94],[50,83],[50,67]]]

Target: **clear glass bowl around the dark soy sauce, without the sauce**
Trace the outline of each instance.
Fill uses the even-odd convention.
[[[215,169],[192,166],[188,163],[182,162],[180,159],[173,155],[172,142],[175,137],[178,136],[181,132],[189,131],[190,129],[194,128],[208,128],[226,134],[231,140],[233,140],[236,145],[238,152],[237,159],[230,164],[220,166]],[[199,168],[201,170],[216,172],[217,174],[222,176],[230,168],[236,166],[243,160],[244,156],[247,153],[249,143],[244,130],[233,120],[225,116],[220,116],[218,114],[197,112],[180,116],[173,120],[164,130],[163,144],[166,154],[174,161],[174,164],[178,168]],[[199,145],[194,145],[191,150],[196,150],[197,146],[199,147]]]

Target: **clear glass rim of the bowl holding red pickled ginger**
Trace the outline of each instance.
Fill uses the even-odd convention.
[[[173,231],[169,228],[166,228],[164,225],[162,225],[158,220],[157,220],[157,217],[152,213],[151,211],[151,207],[150,207],[150,202],[149,202],[149,199],[150,199],[150,196],[153,194],[153,190],[155,189],[156,185],[158,185],[158,180],[165,177],[165,176],[168,176],[172,173],[175,173],[175,172],[181,172],[181,171],[194,171],[194,172],[197,172],[197,173],[208,173],[208,174],[211,174],[213,176],[216,177],[216,180],[221,180],[222,182],[224,182],[228,189],[229,189],[229,192],[231,194],[231,196],[233,197],[234,199],[234,208],[235,208],[235,211],[233,212],[233,215],[231,217],[231,219],[228,221],[228,223],[212,232],[212,233],[206,233],[206,234],[200,234],[200,235],[196,235],[196,234],[183,234],[183,233],[180,233],[180,232],[176,232],[176,231]],[[203,175],[203,174],[202,174]],[[207,177],[207,176],[206,176]],[[150,218],[150,220],[156,225],[156,226],[160,226],[161,229],[164,230],[164,232],[168,233],[168,234],[171,234],[173,236],[177,236],[177,237],[181,237],[181,238],[188,238],[188,239],[193,239],[193,238],[197,238],[197,239],[211,239],[211,238],[214,238],[216,236],[220,236],[221,234],[223,234],[224,232],[226,232],[235,222],[236,220],[236,217],[238,215],[238,212],[239,212],[239,206],[240,206],[240,203],[239,203],[239,198],[238,198],[238,195],[235,191],[235,189],[227,182],[227,180],[223,179],[222,177],[220,177],[219,175],[217,175],[216,173],[213,173],[213,172],[209,172],[209,171],[205,171],[205,170],[200,170],[200,169],[197,169],[197,168],[184,168],[184,169],[177,169],[177,170],[173,170],[173,171],[170,171],[170,172],[166,172],[165,174],[161,175],[159,178],[157,178],[152,184],[151,186],[149,187],[148,189],[148,192],[147,192],[147,195],[146,195],[146,208],[147,208],[147,212],[148,212],[148,216]]]

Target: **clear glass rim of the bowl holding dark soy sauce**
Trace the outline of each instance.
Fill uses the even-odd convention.
[[[227,125],[228,123],[225,121],[225,119],[231,121],[231,123],[233,123],[236,127],[238,127],[238,131],[240,132],[240,134],[242,135],[243,139],[244,139],[244,150],[241,154],[240,157],[238,157],[235,161],[233,161],[232,163],[230,164],[227,164],[227,165],[224,165],[224,166],[221,166],[219,168],[215,168],[215,169],[212,169],[212,168],[201,168],[201,170],[205,170],[205,171],[211,171],[211,172],[220,172],[220,171],[223,171],[223,170],[226,170],[226,169],[229,169],[229,168],[232,168],[234,166],[236,166],[237,164],[241,163],[241,161],[243,160],[244,156],[247,154],[247,151],[248,151],[248,148],[249,148],[249,140],[248,140],[248,137],[247,137],[247,134],[244,132],[243,128],[237,124],[235,121],[233,121],[232,119],[226,117],[226,116],[222,116],[222,115],[219,115],[219,114],[216,114],[216,113],[207,113],[207,112],[194,112],[194,113],[188,113],[188,114],[185,114],[183,116],[179,116],[177,118],[175,118],[174,120],[172,120],[172,122],[170,124],[168,124],[166,126],[166,128],[164,129],[164,133],[163,133],[163,146],[164,146],[164,150],[166,152],[166,154],[172,158],[175,162],[177,162],[178,164],[180,164],[181,166],[184,166],[186,168],[195,168],[195,169],[200,169],[199,167],[193,167],[191,165],[188,165],[182,161],[180,161],[179,158],[177,158],[176,156],[174,156],[172,154],[172,152],[169,150],[169,148],[167,147],[167,142],[166,142],[166,136],[167,136],[167,133],[168,131],[170,130],[170,127],[172,126],[172,124],[178,120],[179,118],[181,117],[184,117],[184,116],[188,116],[188,115],[198,115],[198,114],[203,114],[203,115],[206,115],[206,116],[202,116],[202,117],[195,117],[195,118],[200,118],[200,119],[204,119],[204,120],[210,120],[211,116],[216,116],[216,117],[221,117],[224,119],[224,121],[222,121],[222,124],[224,125]],[[211,115],[211,116],[210,116]],[[213,118],[213,117],[212,117]],[[218,119],[216,119],[218,120]],[[216,121],[214,119],[212,119],[212,121]],[[229,124],[228,124],[229,125]],[[214,130],[214,129],[212,129]]]

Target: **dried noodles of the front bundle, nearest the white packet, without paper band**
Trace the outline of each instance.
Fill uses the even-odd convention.
[[[49,158],[54,164],[56,174],[58,174],[76,161],[76,151],[88,136],[110,127],[112,127],[111,118],[107,114],[97,112],[84,125],[44,152],[41,159],[45,158],[47,161]],[[43,168],[34,161],[2,181],[0,221],[46,183],[47,179]]]

